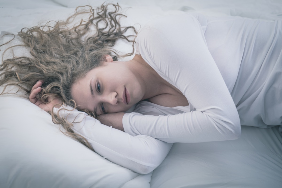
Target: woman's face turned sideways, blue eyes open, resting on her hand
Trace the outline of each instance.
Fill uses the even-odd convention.
[[[74,82],[71,95],[78,109],[100,115],[125,112],[139,102],[144,96],[142,81],[127,65],[107,56],[100,67]]]

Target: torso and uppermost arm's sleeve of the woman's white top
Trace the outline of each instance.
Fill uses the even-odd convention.
[[[281,21],[193,15],[153,21],[136,40],[136,53],[182,91],[191,111],[127,113],[125,132],[205,142],[238,138],[240,124],[281,125]]]

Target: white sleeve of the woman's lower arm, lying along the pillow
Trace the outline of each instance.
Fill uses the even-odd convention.
[[[54,113],[58,110],[54,108]],[[73,131],[84,136],[96,153],[140,174],[153,171],[164,160],[172,146],[150,136],[131,136],[103,125],[100,121],[78,110],[69,112],[62,109],[59,114],[69,122],[74,121]]]

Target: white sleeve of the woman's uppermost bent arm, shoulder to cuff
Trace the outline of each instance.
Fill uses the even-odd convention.
[[[167,116],[127,113],[123,117],[125,132],[166,142],[239,138],[238,112],[197,19],[189,15],[166,17],[137,37],[140,55],[182,91],[191,111]]]

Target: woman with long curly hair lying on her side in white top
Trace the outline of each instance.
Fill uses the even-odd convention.
[[[76,105],[105,125],[158,139],[148,142],[145,158],[146,152],[158,147],[166,148],[165,154],[169,151],[171,145],[159,140],[232,140],[239,138],[240,125],[281,125],[281,22],[167,16],[138,31],[132,60],[117,61],[118,54],[111,48],[118,39],[134,42],[125,36],[134,28],[120,27],[118,6],[107,12],[108,6],[98,9],[97,17],[92,11],[89,20],[71,29],[65,25],[74,16],[54,27],[19,32],[31,57],[6,59],[1,85],[12,80],[14,85],[27,85],[30,101],[51,112],[70,136],[89,147],[87,134],[94,130],[94,118],[80,117],[75,110],[69,114],[64,108]],[[85,37],[93,26],[98,32]],[[136,103],[135,112],[125,113]],[[78,123],[72,127],[68,123],[72,121]],[[112,136],[120,134],[116,129]],[[116,141],[109,145],[120,145],[119,137]],[[150,146],[153,142],[158,143],[155,148]],[[121,147],[117,152],[133,152],[126,150]],[[164,154],[154,155],[164,158],[160,157]]]

